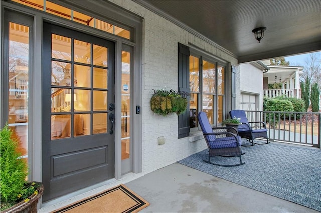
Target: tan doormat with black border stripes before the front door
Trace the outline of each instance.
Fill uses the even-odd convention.
[[[121,184],[92,197],[80,200],[53,213],[68,212],[138,212],[149,203]]]

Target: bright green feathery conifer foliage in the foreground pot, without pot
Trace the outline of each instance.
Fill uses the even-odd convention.
[[[8,124],[0,131],[0,201],[13,203],[17,200],[26,182],[27,163],[19,158],[17,153],[18,141],[11,138],[12,132]]]

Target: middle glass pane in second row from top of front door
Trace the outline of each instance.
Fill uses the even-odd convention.
[[[74,81],[77,87],[90,88],[90,66],[75,65]]]

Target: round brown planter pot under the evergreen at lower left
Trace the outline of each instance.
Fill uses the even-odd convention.
[[[41,198],[44,192],[43,184],[41,184],[41,186],[39,186],[37,190],[38,190],[38,194],[33,194],[30,197],[28,197],[30,199],[28,202],[21,201],[18,204],[12,206],[11,208],[1,211],[1,213],[11,213],[11,212],[36,213],[38,200]]]

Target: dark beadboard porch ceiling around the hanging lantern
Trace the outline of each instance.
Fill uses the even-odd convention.
[[[136,0],[234,54],[239,63],[321,50],[320,0]],[[252,30],[265,26],[258,43]]]

